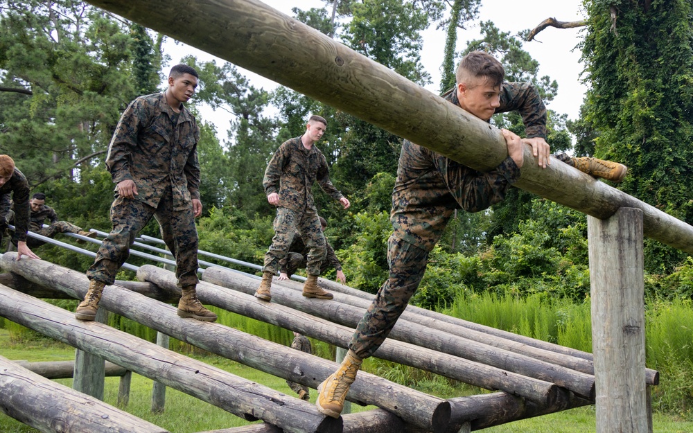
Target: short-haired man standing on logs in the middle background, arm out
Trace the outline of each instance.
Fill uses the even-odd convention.
[[[265,169],[263,186],[267,201],[277,206],[277,217],[274,218],[272,245],[265,254],[263,281],[255,293],[259,299],[271,299],[272,276],[279,271],[279,260],[286,256],[296,235],[303,238],[309,250],[304,296],[332,299],[331,293],[317,286],[326,247],[311,188],[317,182],[325,193],[342,203],[344,209],[349,207],[349,200],[330,182],[327,160],[315,145],[326,127],[324,118],[311,116],[306,133],[282,143]]]

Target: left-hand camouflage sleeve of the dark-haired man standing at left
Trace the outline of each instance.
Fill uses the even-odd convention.
[[[108,146],[106,168],[115,184],[123,180],[132,180],[130,175],[130,148],[137,146],[137,134],[143,127],[146,109],[143,100],[137,98],[128,105],[118,121],[113,138]]]

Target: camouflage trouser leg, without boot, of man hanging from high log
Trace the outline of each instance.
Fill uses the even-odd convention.
[[[430,251],[394,234],[387,240],[389,278],[356,326],[349,348],[361,359],[373,355],[402,315],[423,279]]]

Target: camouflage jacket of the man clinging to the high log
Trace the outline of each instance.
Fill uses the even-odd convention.
[[[446,100],[459,106],[457,94]],[[527,137],[546,136],[546,109],[532,85],[504,82],[495,112],[518,110]],[[478,212],[505,198],[507,188],[520,178],[520,169],[507,157],[495,169],[482,173],[423,146],[405,140],[392,192],[391,221],[397,238],[430,251],[455,209]]]

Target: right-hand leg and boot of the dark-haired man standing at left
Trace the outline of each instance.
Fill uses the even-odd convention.
[[[155,213],[161,238],[166,242],[171,254],[175,257],[176,285],[181,290],[177,314],[179,317],[192,317],[200,321],[215,321],[217,315],[202,306],[198,300],[198,231],[195,229],[195,217],[192,206],[182,210],[173,210],[173,197],[165,194],[159,202]]]

